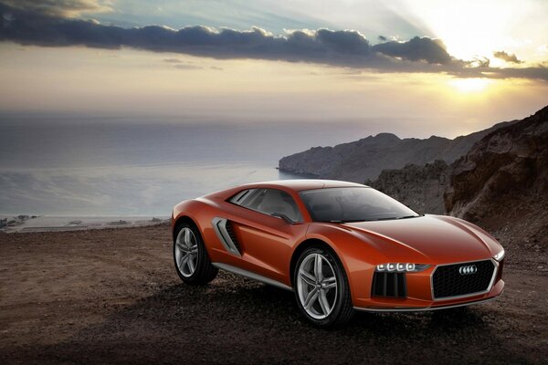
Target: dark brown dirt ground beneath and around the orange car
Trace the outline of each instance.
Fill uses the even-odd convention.
[[[546,363],[546,252],[506,248],[498,300],[325,330],[288,291],[184,285],[166,225],[2,234],[0,363]]]

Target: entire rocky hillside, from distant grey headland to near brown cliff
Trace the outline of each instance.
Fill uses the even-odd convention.
[[[382,133],[300,152],[279,167],[365,182],[417,212],[479,224],[509,246],[548,248],[548,107],[452,141]]]

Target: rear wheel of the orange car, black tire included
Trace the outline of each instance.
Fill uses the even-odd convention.
[[[204,240],[195,224],[185,222],[175,227],[174,265],[177,275],[186,284],[205,285],[215,279],[218,269],[211,265]]]

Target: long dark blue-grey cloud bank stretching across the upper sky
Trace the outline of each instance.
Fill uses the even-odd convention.
[[[310,61],[334,66],[367,66],[377,63],[377,54],[429,63],[447,61],[447,53],[430,38],[388,42],[371,46],[353,30],[297,30],[273,36],[254,27],[248,31],[187,26],[174,30],[163,26],[121,28],[96,22],[50,16],[41,12],[0,5],[0,39],[37,46],[135,47],[217,58],[264,58]],[[378,65],[377,65],[378,66]]]

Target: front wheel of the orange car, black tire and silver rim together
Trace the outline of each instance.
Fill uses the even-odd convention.
[[[312,246],[304,250],[295,266],[293,283],[300,311],[315,326],[339,326],[352,318],[348,278],[331,249]]]

